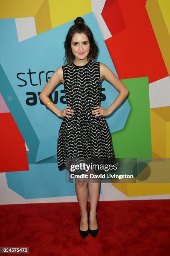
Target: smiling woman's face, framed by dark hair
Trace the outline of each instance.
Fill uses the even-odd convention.
[[[85,59],[90,51],[88,37],[84,33],[75,33],[72,36],[71,49],[75,59]]]

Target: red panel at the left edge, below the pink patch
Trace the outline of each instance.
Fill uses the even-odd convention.
[[[11,113],[0,113],[0,172],[29,170],[25,142]]]

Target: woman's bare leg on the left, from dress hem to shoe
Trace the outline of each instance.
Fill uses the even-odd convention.
[[[85,179],[75,179],[75,192],[77,195],[77,201],[80,206],[80,230],[86,231],[88,229],[87,223],[87,199],[88,199],[88,189],[87,180]]]

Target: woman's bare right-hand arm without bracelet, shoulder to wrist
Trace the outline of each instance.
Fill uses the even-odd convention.
[[[115,101],[107,108],[108,114],[110,115],[125,98],[128,96],[129,90],[125,85],[118,79],[115,74],[112,72],[110,68],[108,68],[105,64],[100,62],[100,78],[105,78],[108,82],[110,82],[119,93],[117,95]]]

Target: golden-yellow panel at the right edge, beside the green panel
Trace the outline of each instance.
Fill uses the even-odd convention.
[[[152,150],[161,158],[170,158],[170,106],[150,110]]]

